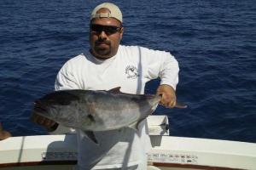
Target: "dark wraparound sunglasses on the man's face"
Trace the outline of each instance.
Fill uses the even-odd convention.
[[[102,26],[97,24],[90,25],[90,31],[94,31],[96,33],[101,33],[102,31],[104,31],[108,36],[120,30],[121,30],[121,27],[118,27],[118,26]]]

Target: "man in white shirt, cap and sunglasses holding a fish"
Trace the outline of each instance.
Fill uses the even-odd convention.
[[[143,94],[145,83],[160,77],[157,89],[157,94],[161,95],[160,104],[174,107],[179,71],[177,60],[167,52],[119,45],[124,34],[122,24],[122,13],[116,5],[98,5],[90,17],[90,50],[63,65],[56,77],[55,90],[121,87],[124,93]],[[61,129],[57,123],[41,116],[34,116],[33,121],[49,131],[56,127]],[[137,132],[129,127],[96,132],[99,144],[94,144],[77,129],[79,169],[147,169],[146,151],[150,140],[145,121],[138,128]]]

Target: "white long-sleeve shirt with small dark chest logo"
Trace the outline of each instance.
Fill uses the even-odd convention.
[[[143,94],[145,83],[157,77],[161,79],[160,84],[176,89],[178,71],[177,60],[170,53],[120,45],[110,59],[96,59],[90,52],[69,59],[56,77],[55,90],[121,87],[123,93]],[[146,169],[150,140],[145,132],[145,122],[137,132],[129,127],[96,132],[99,144],[94,144],[84,132],[77,130],[79,169],[88,169],[93,164],[96,164],[93,169]]]

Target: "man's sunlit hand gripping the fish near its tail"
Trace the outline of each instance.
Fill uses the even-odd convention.
[[[176,105],[176,94],[175,90],[167,85],[162,84],[157,88],[156,94],[161,96],[160,105],[165,107],[173,108]]]

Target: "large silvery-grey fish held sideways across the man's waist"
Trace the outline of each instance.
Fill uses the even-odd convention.
[[[160,95],[124,94],[119,89],[55,91],[37,99],[32,114],[81,129],[96,142],[94,134],[89,132],[121,127],[136,129],[139,122],[153,113],[161,99]]]

